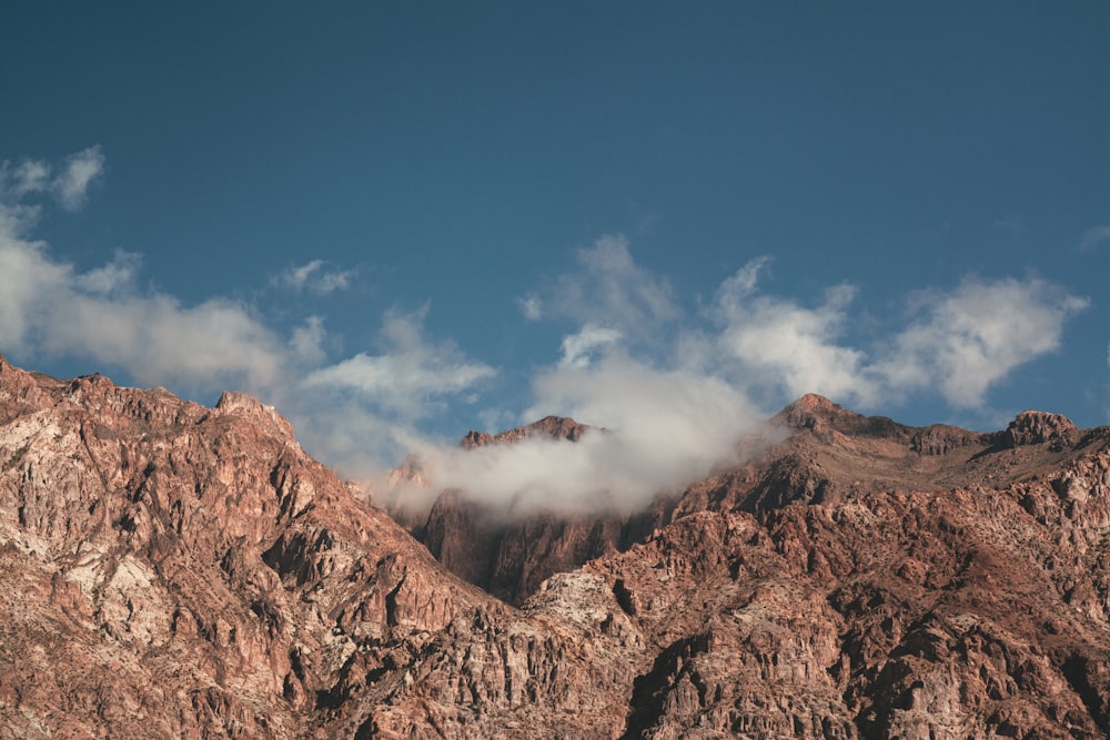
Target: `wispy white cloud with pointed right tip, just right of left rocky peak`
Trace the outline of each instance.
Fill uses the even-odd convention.
[[[452,342],[427,342],[422,328],[425,313],[426,307],[415,314],[387,314],[384,353],[359,353],[313,371],[302,386],[352,393],[377,408],[420,418],[440,407],[443,397],[496,375],[493,367],[468,361]]]

